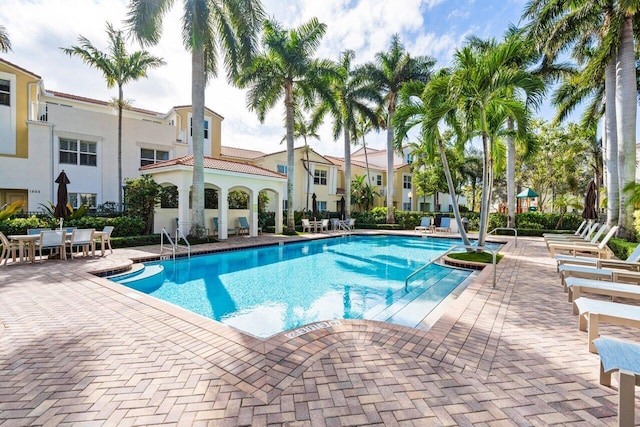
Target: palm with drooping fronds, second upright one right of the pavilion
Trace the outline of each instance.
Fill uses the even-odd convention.
[[[362,74],[354,74],[351,62],[355,52],[342,52],[336,64],[337,75],[331,81],[333,99],[318,105],[313,121],[318,124],[325,114],[333,117],[333,138],[338,139],[340,132],[344,140],[344,185],[345,185],[345,217],[351,217],[351,143],[358,117],[365,117],[370,121],[376,120],[376,113],[372,108],[375,103],[382,101],[376,87]]]

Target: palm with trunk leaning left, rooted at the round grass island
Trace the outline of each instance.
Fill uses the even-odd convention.
[[[456,117],[458,105],[451,93],[453,88],[451,78],[449,70],[441,70],[426,85],[415,82],[402,88],[401,102],[394,118],[394,125],[397,128],[396,144],[401,143],[400,141],[406,137],[410,129],[419,126],[421,149],[425,153],[433,153],[437,147],[451,196],[453,214],[458,224],[458,230],[460,230],[460,237],[465,245],[470,245],[469,237],[462,224],[456,188],[447,160],[446,146],[440,132],[440,124],[445,123],[457,131],[459,140],[464,138],[461,135],[462,132]]]

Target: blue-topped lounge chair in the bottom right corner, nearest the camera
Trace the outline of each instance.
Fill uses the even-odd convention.
[[[640,344],[600,337],[593,341],[600,354],[600,384],[611,385],[618,371],[618,425],[635,424],[635,386],[640,385]]]

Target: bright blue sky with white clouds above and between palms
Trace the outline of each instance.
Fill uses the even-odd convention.
[[[355,64],[373,61],[398,34],[412,56],[436,59],[435,68],[450,65],[454,51],[469,35],[502,38],[509,24],[518,24],[526,0],[263,0],[266,14],[286,28],[312,17],[327,24],[317,57],[337,60],[345,49],[355,51]],[[124,29],[126,0],[3,0],[0,25],[13,51],[0,57],[44,80],[47,90],[109,101],[117,88],[108,89],[102,73],[64,54],[61,47],[76,45],[78,36],[98,49],[108,49],[106,23]],[[147,47],[166,65],[149,71],[148,78],[124,87],[132,105],[161,113],[191,104],[191,57],[180,34],[183,1],[174,2],[165,17],[160,43]],[[129,52],[142,48],[131,41]],[[224,117],[222,144],[266,153],[285,150],[284,104],[280,102],[260,123],[247,108],[246,92],[227,84],[224,70],[209,82],[205,105]],[[541,111],[550,119],[552,112]],[[320,129],[320,140],[310,140],[321,154],[342,157],[343,143],[333,140],[330,122]],[[367,136],[367,144],[384,148],[385,135]],[[302,145],[296,141],[296,146]]]

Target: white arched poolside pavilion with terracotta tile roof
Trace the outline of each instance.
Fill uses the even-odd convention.
[[[178,227],[181,230],[191,228],[191,210],[189,194],[193,183],[193,156],[179,157],[140,168],[162,186],[174,185],[178,189]],[[205,188],[218,191],[218,238],[228,237],[229,203],[228,195],[232,190],[241,190],[249,194],[249,235],[258,235],[258,194],[270,191],[275,195],[275,206],[282,206],[286,175],[273,172],[259,166],[246,163],[204,158]],[[282,233],[282,210],[276,209],[276,233]]]

